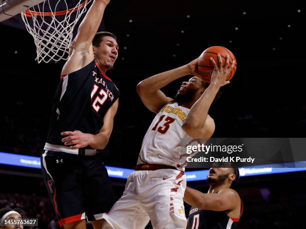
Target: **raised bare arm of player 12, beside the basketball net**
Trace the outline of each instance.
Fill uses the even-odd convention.
[[[86,16],[78,27],[70,50],[69,59],[62,68],[61,74],[67,75],[89,64],[94,56],[92,40],[96,34],[104,14],[104,10],[110,0],[93,0]]]

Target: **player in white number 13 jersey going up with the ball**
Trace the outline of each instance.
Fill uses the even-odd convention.
[[[219,88],[228,84],[226,67],[214,65],[209,86],[199,77],[197,59],[179,68],[157,74],[141,81],[137,92],[143,104],[156,117],[148,128],[139,154],[136,171],[126,182],[122,197],[112,206],[102,228],[142,229],[151,220],[154,229],[186,228],[183,194],[186,187],[184,146],[192,139],[210,138],[214,121],[208,109]],[[160,88],[186,75],[194,75],[183,82],[175,100],[166,97]]]

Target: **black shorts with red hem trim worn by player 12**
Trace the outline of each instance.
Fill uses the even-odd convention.
[[[101,219],[117,200],[99,155],[44,150],[41,170],[60,226]]]

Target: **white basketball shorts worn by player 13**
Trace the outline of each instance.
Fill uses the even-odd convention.
[[[185,229],[183,194],[186,177],[175,169],[134,171],[121,198],[103,214],[103,229]]]

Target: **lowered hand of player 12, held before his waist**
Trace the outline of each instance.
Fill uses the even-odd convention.
[[[86,134],[79,130],[65,131],[60,133],[60,135],[68,136],[61,139],[61,142],[64,142],[65,146],[70,146],[71,149],[83,148],[93,142],[92,134]]]

